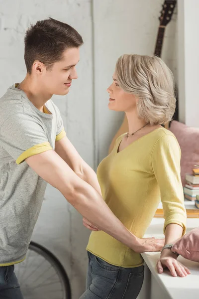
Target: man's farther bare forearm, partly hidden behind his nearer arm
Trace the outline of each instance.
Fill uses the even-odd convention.
[[[101,195],[96,172],[83,160],[66,136],[56,141],[55,151],[81,179],[93,186]]]

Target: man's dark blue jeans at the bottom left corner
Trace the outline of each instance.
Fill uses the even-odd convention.
[[[23,299],[14,265],[0,267],[0,299]]]

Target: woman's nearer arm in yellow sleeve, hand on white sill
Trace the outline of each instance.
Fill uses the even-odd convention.
[[[180,175],[181,151],[176,138],[171,134],[162,136],[156,143],[151,165],[157,179],[164,210],[165,245],[173,244],[186,230],[186,209]],[[173,276],[185,276],[189,270],[177,262],[177,255],[164,249],[158,261],[158,272],[167,267]]]

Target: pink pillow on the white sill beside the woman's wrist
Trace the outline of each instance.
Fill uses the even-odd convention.
[[[199,227],[185,234],[171,249],[185,259],[199,262]]]

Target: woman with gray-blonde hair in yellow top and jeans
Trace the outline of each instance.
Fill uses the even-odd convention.
[[[180,178],[180,147],[174,135],[161,125],[175,111],[174,80],[159,57],[122,55],[108,87],[108,107],[124,111],[128,133],[120,136],[112,152],[98,167],[102,197],[131,231],[142,238],[163,203],[165,245],[185,233],[186,210]],[[143,283],[144,266],[139,253],[93,229],[87,247],[87,290],[81,299],[135,299]],[[159,273],[168,267],[173,276],[189,270],[177,261],[170,248],[163,248]]]

